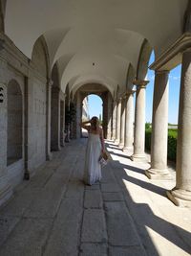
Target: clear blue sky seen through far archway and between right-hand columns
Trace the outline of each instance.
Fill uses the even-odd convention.
[[[154,61],[154,54],[152,53],[149,65]],[[171,70],[169,74],[169,106],[168,106],[168,123],[178,124],[178,109],[180,96],[180,71],[181,65]],[[152,108],[153,108],[153,92],[155,72],[148,70],[147,80],[150,81],[146,86],[146,120],[145,122],[152,122]],[[92,94],[89,98],[89,114],[90,118],[93,116],[102,115],[102,100]]]

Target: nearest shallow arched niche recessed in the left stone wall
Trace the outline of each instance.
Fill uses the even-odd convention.
[[[7,165],[23,156],[23,96],[17,81],[8,83]]]

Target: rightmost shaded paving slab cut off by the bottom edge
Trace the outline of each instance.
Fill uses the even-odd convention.
[[[141,246],[109,247],[109,256],[146,256],[145,250]]]

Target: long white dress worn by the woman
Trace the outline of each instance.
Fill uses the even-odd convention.
[[[101,179],[101,166],[98,162],[100,154],[99,134],[89,133],[84,167],[84,181],[86,184],[93,185]]]

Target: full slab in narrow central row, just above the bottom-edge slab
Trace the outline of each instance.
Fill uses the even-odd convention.
[[[88,209],[84,211],[81,242],[107,242],[107,232],[103,210]]]

